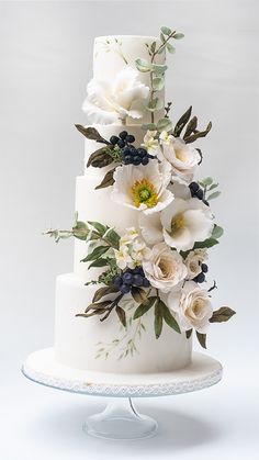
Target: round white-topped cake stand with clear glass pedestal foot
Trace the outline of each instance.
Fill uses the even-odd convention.
[[[122,374],[65,367],[55,361],[54,349],[46,348],[30,355],[22,372],[27,379],[57,390],[114,397],[103,412],[91,415],[83,424],[87,434],[106,439],[137,439],[156,433],[157,422],[138,414],[132,397],[193,392],[222,379],[221,363],[199,352],[194,352],[192,363],[181,370]]]

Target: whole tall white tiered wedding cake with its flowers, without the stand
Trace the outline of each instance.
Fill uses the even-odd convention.
[[[193,330],[206,347],[213,311],[207,249],[223,231],[212,178],[194,181],[204,137],[192,109],[172,123],[165,104],[166,52],[182,34],[101,36],[82,109],[85,171],[76,180],[72,273],[56,281],[55,359],[69,368],[153,373],[187,367]],[[183,134],[184,132],[184,134]]]

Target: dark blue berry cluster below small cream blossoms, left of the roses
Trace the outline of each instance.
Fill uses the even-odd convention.
[[[137,288],[149,288],[150,285],[142,267],[127,268],[121,276],[114,277],[112,283],[122,294],[127,294],[133,285]]]

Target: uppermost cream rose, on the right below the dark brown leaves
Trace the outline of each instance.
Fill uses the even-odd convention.
[[[161,156],[172,166],[173,175],[190,182],[201,160],[199,152],[179,137],[161,133]]]

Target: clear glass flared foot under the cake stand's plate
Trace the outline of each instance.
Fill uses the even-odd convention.
[[[154,436],[157,422],[138,414],[131,397],[116,399],[103,412],[87,418],[82,429],[90,436],[104,439],[142,439]]]

